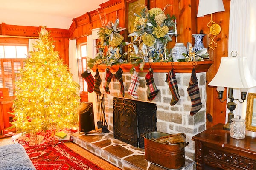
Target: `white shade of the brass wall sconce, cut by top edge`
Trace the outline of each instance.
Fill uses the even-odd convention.
[[[222,0],[199,0],[197,17],[222,11],[225,11]]]

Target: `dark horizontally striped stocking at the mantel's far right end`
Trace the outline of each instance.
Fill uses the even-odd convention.
[[[192,70],[189,87],[187,88],[187,91],[191,98],[190,115],[193,116],[202,108],[195,68],[193,68]]]

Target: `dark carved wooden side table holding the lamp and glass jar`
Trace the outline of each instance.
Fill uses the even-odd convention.
[[[256,170],[256,137],[234,139],[222,127],[218,124],[193,136],[196,169]]]

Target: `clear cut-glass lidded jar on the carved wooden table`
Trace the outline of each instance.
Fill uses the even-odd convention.
[[[235,139],[244,139],[245,138],[245,120],[240,119],[240,116],[237,118],[232,118],[232,123],[230,125],[230,136]]]

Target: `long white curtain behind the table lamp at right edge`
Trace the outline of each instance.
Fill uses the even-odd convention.
[[[238,57],[247,57],[251,74],[256,79],[256,0],[231,0],[230,1],[230,25],[228,40],[228,56],[232,51],[237,51]],[[236,76],[236,75],[233,75]],[[248,92],[255,93],[256,88],[250,88]],[[233,97],[241,100],[239,90],[233,91]],[[228,101],[229,102],[229,101]],[[233,113],[245,119],[247,100],[237,106]],[[229,112],[227,110],[227,112]],[[226,116],[227,118],[227,116]]]

